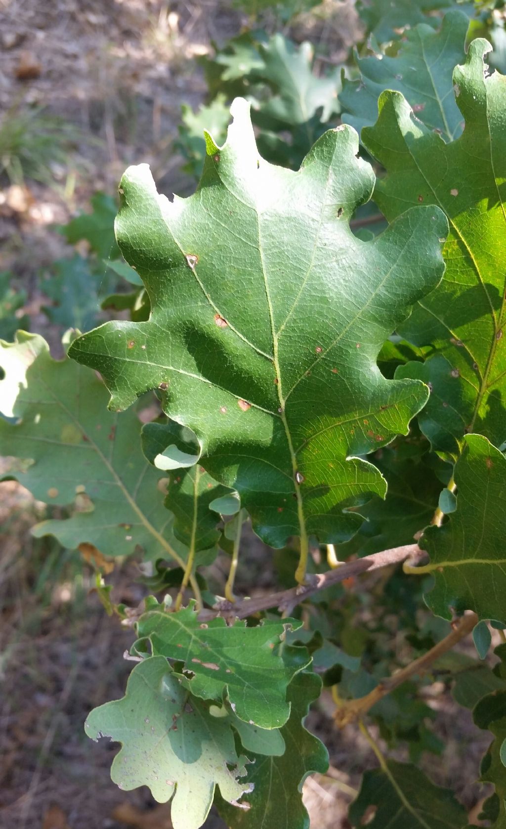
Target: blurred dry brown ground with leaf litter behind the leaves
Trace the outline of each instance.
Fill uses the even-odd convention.
[[[340,61],[354,40],[354,12],[348,3],[328,5],[325,17],[302,18],[291,33],[325,40]],[[130,162],[150,162],[161,191],[188,191],[172,142],[181,103],[198,104],[205,90],[192,58],[244,22],[244,13],[215,0],[0,0],[0,111],[38,104],[76,130],[75,149],[51,170],[51,183],[0,190],[0,270],[12,269],[28,290],[32,329],[50,341],[34,286],[36,269],[68,250],[53,225],[84,209],[95,190],[113,193]],[[273,25],[268,14],[265,23]],[[14,482],[0,484],[0,498],[0,829],[170,829],[168,809],[146,789],[123,793],[110,782],[115,747],[96,746],[83,732],[90,708],[123,695],[131,633],[106,616],[76,554],[31,539],[42,506]],[[243,579],[244,589],[268,589],[270,560],[254,542],[250,553],[239,588]],[[115,601],[141,598],[130,586],[135,566],[115,572]],[[448,748],[431,771],[471,805],[476,790],[466,781],[487,738],[470,745],[467,712],[447,700],[435,705]],[[324,696],[310,717],[333,767],[306,783],[311,829],[348,827],[360,772],[373,765],[356,730],[333,730],[331,712]],[[206,829],[213,827],[223,823],[211,815]]]

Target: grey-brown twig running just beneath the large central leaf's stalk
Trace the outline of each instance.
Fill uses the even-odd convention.
[[[308,583],[299,584],[298,587],[280,590],[278,593],[271,593],[266,596],[257,596],[254,599],[243,599],[234,604],[231,602],[221,602],[212,610],[202,610],[199,613],[199,618],[202,621],[219,615],[233,618],[246,618],[247,616],[252,616],[254,613],[260,613],[269,608],[278,608],[283,611],[288,607],[295,607],[296,604],[300,604],[308,596],[317,593],[319,590],[349,579],[350,576],[365,572],[369,573],[372,570],[379,570],[381,567],[388,567],[388,565],[400,564],[401,561],[412,560],[413,563],[418,562],[425,556],[426,553],[417,544],[393,547],[392,550],[383,550],[381,553],[367,555],[363,559],[348,561],[346,564],[340,565],[335,570],[329,570],[327,573],[308,575]]]

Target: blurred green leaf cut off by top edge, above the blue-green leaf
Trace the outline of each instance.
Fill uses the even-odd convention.
[[[367,34],[373,34],[379,43],[385,43],[395,40],[417,23],[436,27],[439,18],[432,17],[430,12],[453,4],[454,0],[358,0],[357,10]]]

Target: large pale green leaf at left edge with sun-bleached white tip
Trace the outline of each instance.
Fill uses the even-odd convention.
[[[172,557],[172,516],[157,490],[161,473],[142,454],[135,411],[108,412],[94,372],[53,360],[38,334],[18,332],[16,342],[0,342],[0,366],[3,414],[19,418],[0,421],[0,454],[32,461],[6,477],[38,501],[76,502],[70,518],[42,521],[34,534],[54,535],[70,549],[88,542],[104,555],[128,555],[139,545],[147,557]],[[185,548],[176,547],[181,560]]]

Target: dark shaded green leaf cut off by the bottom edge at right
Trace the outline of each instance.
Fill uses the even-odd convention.
[[[462,829],[467,819],[450,789],[436,786],[417,766],[396,760],[364,773],[359,797],[349,807],[352,826],[361,825],[369,807],[376,807],[369,829]]]

